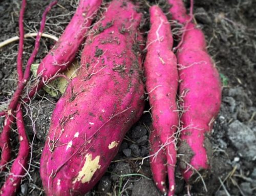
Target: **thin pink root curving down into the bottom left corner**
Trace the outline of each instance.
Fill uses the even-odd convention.
[[[17,130],[19,134],[18,156],[13,162],[9,176],[0,190],[0,195],[2,196],[16,195],[20,182],[22,181],[28,166],[29,141],[26,135],[21,107],[22,105],[18,104],[18,111],[16,112]]]

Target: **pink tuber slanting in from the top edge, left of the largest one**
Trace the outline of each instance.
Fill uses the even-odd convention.
[[[38,88],[44,85],[44,81],[55,74],[66,70],[74,60],[75,55],[81,46],[87,32],[92,24],[92,20],[99,9],[102,0],[80,0],[77,10],[69,25],[60,36],[57,43],[42,59],[37,70],[37,76],[41,78]],[[33,89],[35,91],[36,89]],[[31,95],[34,92],[31,92]]]

